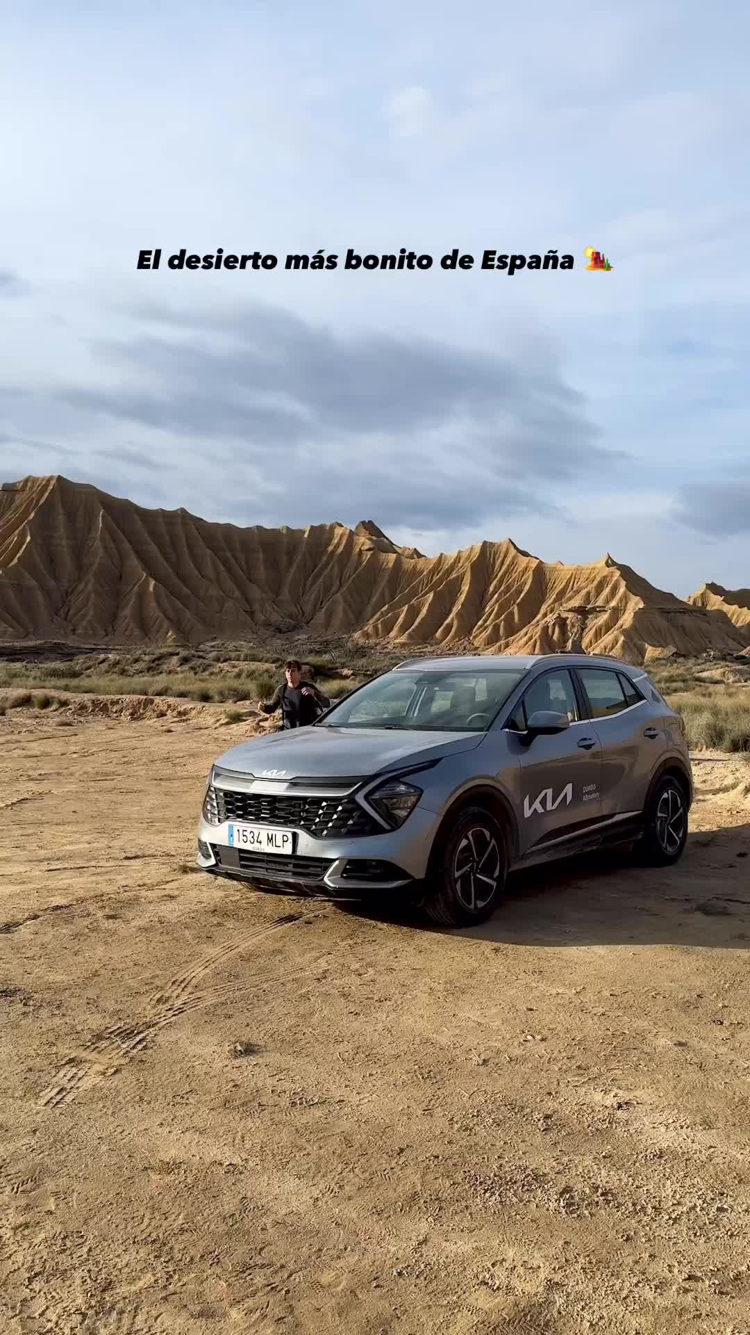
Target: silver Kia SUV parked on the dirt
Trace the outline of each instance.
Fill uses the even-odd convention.
[[[332,900],[416,896],[482,922],[508,872],[605,844],[675,862],[693,774],[682,720],[613,658],[423,658],[315,724],[214,765],[199,865]]]

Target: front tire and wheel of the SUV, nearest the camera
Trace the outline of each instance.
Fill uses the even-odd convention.
[[[486,922],[503,897],[506,876],[500,825],[480,806],[464,808],[438,837],[422,905],[442,926]]]

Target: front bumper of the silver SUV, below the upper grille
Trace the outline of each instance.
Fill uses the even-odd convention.
[[[210,825],[202,816],[198,865],[204,872],[263,888],[355,900],[406,892],[424,877],[438,816],[416,808],[400,829],[364,837],[315,838],[298,829],[291,856],[231,848],[228,824]]]

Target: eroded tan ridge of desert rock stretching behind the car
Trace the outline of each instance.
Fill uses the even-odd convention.
[[[147,510],[60,477],[0,490],[0,639],[248,639],[287,631],[642,662],[741,653],[750,623],[683,602],[609,554],[546,563],[514,542],[424,557],[372,521],[307,529]]]

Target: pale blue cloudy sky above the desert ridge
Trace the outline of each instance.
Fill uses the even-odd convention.
[[[749,41],[739,0],[27,0],[1,479],[749,586]],[[171,270],[183,247],[279,263]],[[400,247],[432,267],[343,267]],[[335,270],[284,268],[319,248]]]

